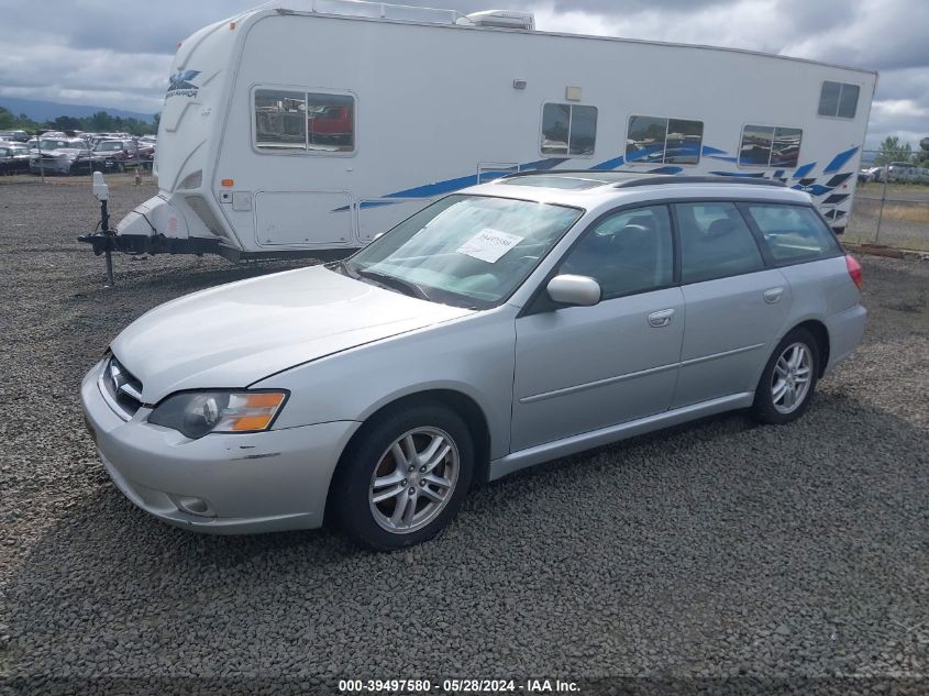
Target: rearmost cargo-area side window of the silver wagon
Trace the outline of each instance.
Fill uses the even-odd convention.
[[[749,203],[745,210],[777,263],[811,261],[839,253],[836,239],[809,208]]]

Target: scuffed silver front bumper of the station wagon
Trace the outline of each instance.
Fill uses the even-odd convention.
[[[84,378],[84,411],[107,473],[136,506],[169,524],[208,533],[322,524],[332,473],[360,423],[188,440],[145,422],[150,409],[129,421],[118,416],[98,385],[102,366]]]

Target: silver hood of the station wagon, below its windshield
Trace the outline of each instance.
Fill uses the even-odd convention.
[[[313,266],[156,307],[111,347],[142,382],[142,400],[152,405],[181,389],[246,387],[301,363],[473,311]]]

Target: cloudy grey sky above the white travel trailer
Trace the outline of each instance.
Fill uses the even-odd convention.
[[[297,8],[306,0],[292,0]],[[398,0],[537,27],[750,48],[881,73],[867,143],[929,135],[927,0]],[[177,42],[258,0],[0,0],[0,97],[161,110]],[[287,3],[283,3],[287,7]]]

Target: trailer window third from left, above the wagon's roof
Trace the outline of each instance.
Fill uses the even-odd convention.
[[[697,164],[703,141],[703,121],[633,115],[626,136],[626,161]]]

